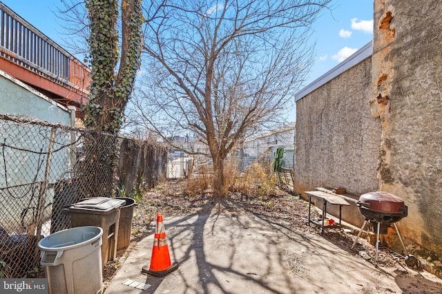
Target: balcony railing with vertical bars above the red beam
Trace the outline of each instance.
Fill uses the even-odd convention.
[[[0,58],[87,96],[90,70],[0,2]]]

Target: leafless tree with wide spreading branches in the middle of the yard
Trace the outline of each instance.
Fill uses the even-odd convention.
[[[198,136],[214,193],[224,194],[224,159],[238,140],[283,120],[313,59],[309,25],[329,2],[151,1],[138,123],[164,138],[171,127]]]

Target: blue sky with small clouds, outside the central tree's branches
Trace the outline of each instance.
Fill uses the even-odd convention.
[[[23,19],[63,45],[64,35],[57,19],[61,0],[0,0]],[[323,10],[314,23],[311,41],[316,41],[316,61],[305,85],[331,70],[372,40],[374,0],[334,0],[333,10]],[[80,58],[82,60],[82,58]]]

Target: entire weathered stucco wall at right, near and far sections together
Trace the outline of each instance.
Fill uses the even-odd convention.
[[[442,6],[374,1],[372,56],[296,101],[295,190],[402,198],[409,252],[442,272]],[[397,243],[395,233],[385,235]],[[439,263],[438,263],[439,262]]]

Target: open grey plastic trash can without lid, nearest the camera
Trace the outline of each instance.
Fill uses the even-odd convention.
[[[103,291],[100,227],[75,227],[39,242],[49,294],[95,294]]]

